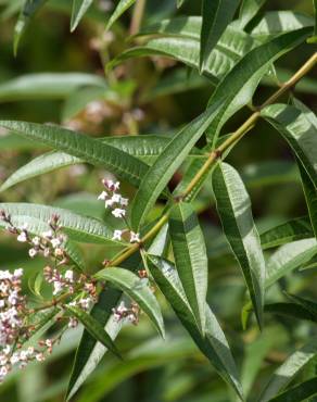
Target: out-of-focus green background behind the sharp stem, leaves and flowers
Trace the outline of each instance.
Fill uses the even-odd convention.
[[[87,17],[75,33],[69,33],[71,1],[52,0],[37,14],[24,36],[17,56],[13,56],[13,29],[23,1],[0,0],[0,103],[1,118],[56,123],[83,130],[91,136],[169,134],[190,122],[204,110],[213,91],[205,79],[194,81],[180,64],[164,58],[132,60],[104,74],[105,63],[130,45],[126,41],[130,13],[126,13],[113,32],[104,34],[105,22],[113,2],[96,1]],[[309,0],[267,1],[266,10],[297,10],[312,14]],[[174,0],[148,0],[143,24],[154,23],[177,14],[195,15],[200,1],[188,1],[177,10]],[[278,65],[288,76],[299,68],[312,53],[312,46],[303,46],[282,58]],[[52,73],[45,85],[28,84],[21,90],[17,77]],[[67,75],[59,75],[55,74]],[[78,76],[75,73],[92,76]],[[315,73],[315,74],[314,74]],[[182,84],[173,85],[174,77],[183,74]],[[96,75],[105,78],[106,88],[91,89]],[[283,77],[280,77],[283,79]],[[61,81],[61,79],[63,79]],[[299,85],[295,95],[317,111],[316,71],[306,85]],[[13,83],[13,84],[12,84]],[[49,84],[48,84],[49,83]],[[23,87],[23,81],[20,85]],[[274,88],[262,85],[254,103],[259,104]],[[288,97],[284,97],[288,101]],[[242,110],[226,125],[230,133],[249,115]],[[42,153],[43,148],[22,141],[14,135],[0,131],[0,183],[17,167]],[[241,173],[253,202],[253,213],[261,231],[288,218],[306,213],[304,197],[293,156],[279,135],[261,122],[228,158]],[[277,174],[278,172],[278,174]],[[109,219],[98,203],[100,179],[105,172],[88,165],[73,166],[24,181],[0,193],[1,202],[37,202],[67,208],[100,219]],[[176,175],[172,186],[179,180]],[[241,328],[241,307],[246,300],[237,264],[228,254],[220,235],[219,222],[213,206],[213,194],[207,184],[196,200],[200,219],[205,233],[210,256],[208,302],[219,317],[242,372],[244,387],[253,389],[250,401],[272,369],[288,353],[308,336],[316,335],[310,324],[274,315],[266,317],[264,334],[255,326]],[[125,193],[134,190],[124,186]],[[157,206],[157,211],[160,206]],[[157,211],[154,211],[156,213]],[[83,248],[91,272],[112,254],[112,250],[87,246]],[[43,261],[27,259],[27,251],[11,236],[1,234],[1,268],[23,266],[29,277],[42,267]],[[281,289],[305,292],[315,299],[316,268],[289,275],[281,287],[270,289],[268,300],[282,299]],[[78,402],[227,402],[234,401],[227,386],[219,379],[207,361],[198,352],[169,307],[165,310],[168,338],[156,338],[143,317],[138,327],[127,326],[118,337],[118,347],[126,356],[117,362],[105,355],[99,368],[74,400]],[[80,331],[71,331],[51,359],[16,373],[0,386],[0,400],[8,402],[63,401],[75,348]],[[254,350],[257,353],[254,353]],[[316,362],[315,362],[316,363]],[[307,369],[310,375],[316,366]],[[314,372],[315,370],[315,372]],[[309,373],[303,373],[309,376]]]

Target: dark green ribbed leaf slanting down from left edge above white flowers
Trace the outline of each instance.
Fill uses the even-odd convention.
[[[145,163],[126,152],[66,128],[13,121],[1,121],[0,126],[80,158],[93,165],[104,166],[117,177],[126,179],[134,186],[140,185],[148,171]]]

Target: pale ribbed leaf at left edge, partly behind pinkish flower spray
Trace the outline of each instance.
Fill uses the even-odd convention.
[[[112,240],[112,227],[98,219],[81,216],[60,208],[12,202],[0,203],[0,210],[11,215],[14,226],[23,227],[24,224],[27,224],[28,230],[35,235],[41,235],[45,230],[48,230],[48,222],[53,214],[56,214],[60,216],[60,224],[63,227],[63,231],[71,239],[102,244],[123,244],[122,242]],[[2,228],[7,227],[3,221],[0,221],[0,226]]]

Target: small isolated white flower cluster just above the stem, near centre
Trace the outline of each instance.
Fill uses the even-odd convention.
[[[103,179],[102,184],[104,186],[104,190],[101,192],[98,199],[104,201],[105,208],[110,208],[115,217],[123,218],[127,224],[126,208],[128,206],[129,200],[122,197],[122,194],[117,192],[119,189],[119,181]],[[130,229],[115,229],[112,239],[122,240],[124,234],[129,235],[129,241],[131,243],[141,241],[140,235]]]

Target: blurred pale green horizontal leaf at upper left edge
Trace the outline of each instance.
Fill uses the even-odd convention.
[[[106,88],[102,77],[85,73],[26,74],[0,85],[0,101],[64,99],[80,86]]]

